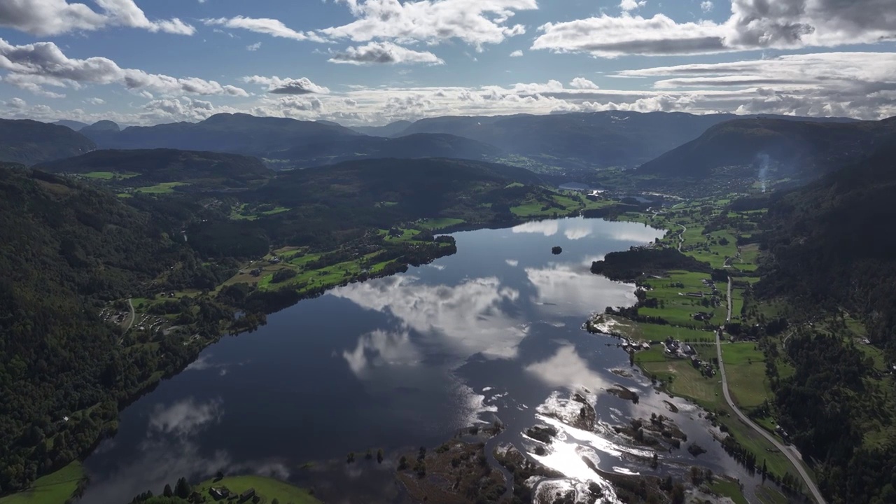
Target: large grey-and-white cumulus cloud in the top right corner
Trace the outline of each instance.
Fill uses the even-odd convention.
[[[712,3],[701,8],[709,12]],[[732,0],[724,23],[677,22],[661,13],[643,18],[624,10],[616,17],[549,22],[538,29],[542,34],[532,48],[599,57],[662,56],[896,39],[892,0]]]

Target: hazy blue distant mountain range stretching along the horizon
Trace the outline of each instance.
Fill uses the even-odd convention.
[[[551,171],[634,168],[693,141],[733,114],[607,111],[496,117],[433,117],[386,126],[218,114],[199,123],[84,126],[100,149],[183,149],[257,156],[278,169],[364,158],[448,157],[501,161]],[[752,117],[755,118],[755,117]],[[781,123],[799,117],[774,117]],[[822,124],[850,119],[805,118]],[[435,136],[428,136],[435,135]],[[386,140],[392,139],[392,141]]]

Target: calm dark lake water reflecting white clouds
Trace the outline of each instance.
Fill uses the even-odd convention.
[[[538,408],[562,408],[568,391],[582,387],[599,421],[666,414],[710,448],[701,465],[740,474],[693,406],[674,400],[681,411],[669,413],[662,400],[673,400],[654,394],[637,372],[612,373],[630,369],[617,340],[581,327],[590,313],[635,300],[633,286],[590,274],[591,262],[661,235],[642,224],[582,218],[459,232],[454,256],[301,301],[255,333],[207,348],[127,408],[116,437],[85,463],[90,487],[82,502],[125,503],[181,476],[199,481],[218,470],[313,482],[330,502],[360,501],[351,497],[359,494],[374,502],[380,490],[379,501],[401,500],[386,483],[377,489],[388,478],[347,468],[346,454],[383,448],[396,456],[495,418],[507,426],[497,440],[524,449],[521,431],[545,420]],[[552,255],[554,246],[563,253]],[[639,391],[641,402],[603,391],[617,383]],[[611,432],[564,437],[573,456],[543,461],[564,474],[582,471],[575,462],[582,446],[601,469],[645,472]],[[302,469],[332,459],[341,462],[329,473]],[[693,464],[684,449],[668,460],[667,470]]]

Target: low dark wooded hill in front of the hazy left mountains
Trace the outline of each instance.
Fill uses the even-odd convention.
[[[182,182],[203,188],[238,188],[259,185],[273,178],[271,169],[256,158],[174,149],[94,151],[35,168],[50,173],[118,174],[120,179],[110,181],[123,187]]]

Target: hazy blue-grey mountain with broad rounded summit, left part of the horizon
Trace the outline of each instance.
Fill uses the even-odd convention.
[[[199,123],[131,126],[121,132],[88,131],[101,149],[182,149],[234,152],[277,158],[277,152],[308,143],[360,135],[342,126],[283,117],[218,114]]]

